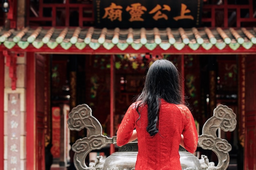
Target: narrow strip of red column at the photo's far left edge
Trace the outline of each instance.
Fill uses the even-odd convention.
[[[0,169],[4,169],[4,55],[0,53]]]

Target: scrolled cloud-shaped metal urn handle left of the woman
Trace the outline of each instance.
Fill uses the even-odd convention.
[[[113,138],[102,135],[102,126],[92,116],[92,109],[87,104],[74,107],[68,115],[67,124],[70,130],[87,129],[87,137],[77,139],[72,145],[72,150],[75,152],[74,165],[77,170],[93,170],[92,166],[86,166],[86,156],[92,150],[99,150],[108,144],[112,144]]]

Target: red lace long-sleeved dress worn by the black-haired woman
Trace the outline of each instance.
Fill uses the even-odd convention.
[[[117,145],[128,143],[132,131],[136,128],[138,137],[138,155],[135,170],[181,170],[179,146],[181,134],[184,146],[189,152],[195,152],[198,134],[195,121],[189,109],[184,105],[170,104],[161,100],[159,112],[159,132],[150,137],[147,106],[141,110],[141,117],[133,103],[127,110],[117,130]]]

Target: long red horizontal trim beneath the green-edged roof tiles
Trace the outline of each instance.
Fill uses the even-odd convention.
[[[5,50],[4,46],[0,46],[0,51]],[[167,50],[161,49],[160,46],[157,46],[153,51],[148,50],[145,46],[142,46],[139,50],[135,50],[132,46],[128,46],[128,48],[124,51],[120,50],[117,46],[114,46],[112,49],[107,50],[103,46],[100,46],[99,49],[93,50],[89,45],[85,46],[83,50],[79,50],[76,46],[71,46],[70,49],[65,50],[61,46],[57,46],[55,49],[50,49],[47,45],[42,46],[40,49],[36,49],[32,44],[30,44],[26,49],[20,49],[18,45],[15,45],[12,51],[20,51],[20,52],[36,52],[36,53],[78,53],[78,54],[127,54],[127,53],[149,53],[149,54],[205,54],[205,55],[217,55],[217,54],[255,54],[256,53],[256,45],[253,45],[250,49],[245,49],[243,46],[240,46],[237,50],[232,50],[227,45],[224,49],[219,50],[216,46],[213,46],[211,49],[206,50],[202,46],[200,46],[196,51],[191,49],[189,46],[184,46],[182,50],[175,49],[174,46],[171,46]]]

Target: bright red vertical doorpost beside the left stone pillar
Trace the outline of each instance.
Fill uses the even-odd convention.
[[[26,87],[26,110],[27,110],[27,170],[36,169],[36,146],[35,146],[35,57],[34,53],[27,53],[27,87]]]

